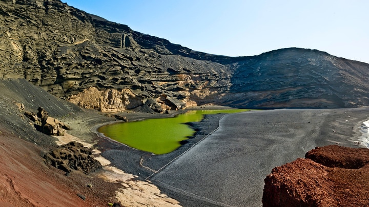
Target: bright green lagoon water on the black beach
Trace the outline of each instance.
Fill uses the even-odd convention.
[[[204,114],[235,113],[248,109],[193,110],[174,118],[147,119],[137,122],[120,122],[102,126],[98,129],[105,136],[132,148],[154,154],[166,154],[181,146],[195,131],[187,122],[199,122]]]

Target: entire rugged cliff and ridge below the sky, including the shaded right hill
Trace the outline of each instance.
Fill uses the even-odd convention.
[[[0,77],[25,78],[87,108],[369,105],[369,65],[316,50],[210,55],[58,0],[2,1],[0,22]]]

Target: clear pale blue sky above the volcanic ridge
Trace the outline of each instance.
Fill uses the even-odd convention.
[[[369,1],[62,0],[132,30],[227,56],[309,48],[369,63]]]

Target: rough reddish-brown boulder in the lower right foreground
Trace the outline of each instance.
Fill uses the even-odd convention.
[[[369,149],[326,146],[276,167],[263,206],[369,206]]]

